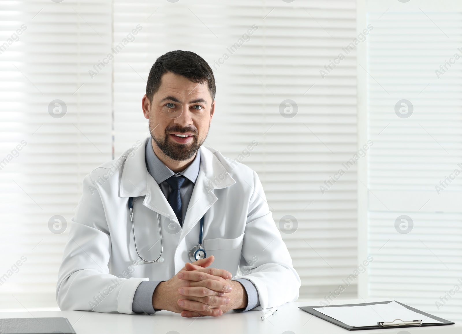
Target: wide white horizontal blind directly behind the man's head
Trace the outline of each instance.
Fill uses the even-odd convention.
[[[281,234],[300,297],[323,300],[345,285],[357,266],[356,167],[324,194],[320,187],[357,152],[356,51],[342,51],[356,37],[355,1],[116,0],[114,19],[115,44],[143,27],[114,60],[116,156],[149,134],[140,102],[156,58],[198,53],[217,80],[206,144],[257,171],[278,226],[296,218],[298,228],[286,230],[284,217]],[[250,40],[231,50],[249,29]],[[293,118],[285,103],[280,113],[287,99],[298,106]],[[356,280],[341,297],[356,297]]]

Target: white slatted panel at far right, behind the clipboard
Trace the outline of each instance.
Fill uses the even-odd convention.
[[[367,15],[369,295],[461,320],[462,13],[387,7]]]

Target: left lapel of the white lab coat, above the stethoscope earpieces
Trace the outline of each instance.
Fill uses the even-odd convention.
[[[127,157],[123,165],[122,177],[120,182],[120,197],[139,197],[146,196],[143,204],[162,216],[166,216],[178,223],[175,212],[167,202],[164,194],[160,190],[157,182],[147,171],[145,160],[146,141],[136,151],[130,149],[121,158]],[[134,155],[133,155],[134,154]],[[119,159],[121,159],[119,158]],[[119,160],[118,160],[119,161]]]

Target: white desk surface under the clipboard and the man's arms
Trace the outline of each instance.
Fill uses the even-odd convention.
[[[336,301],[332,304],[364,303],[360,300]],[[103,333],[155,333],[155,334],[433,334],[462,333],[462,323],[449,326],[421,328],[386,328],[376,330],[348,331],[330,322],[298,309],[298,306],[312,306],[317,303],[287,303],[267,320],[261,321],[260,311],[245,313],[229,312],[217,318],[183,318],[181,315],[160,311],[155,315],[127,315],[118,313],[97,313],[86,311],[43,311],[43,312],[0,312],[0,318],[19,317],[65,317],[77,334]]]

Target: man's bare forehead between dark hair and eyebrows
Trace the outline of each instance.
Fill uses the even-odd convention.
[[[154,94],[154,98],[162,99],[168,95],[178,97],[188,96],[190,98],[200,96],[204,99],[212,99],[207,87],[207,82],[193,82],[182,75],[172,72],[167,72],[162,75],[160,87]]]

